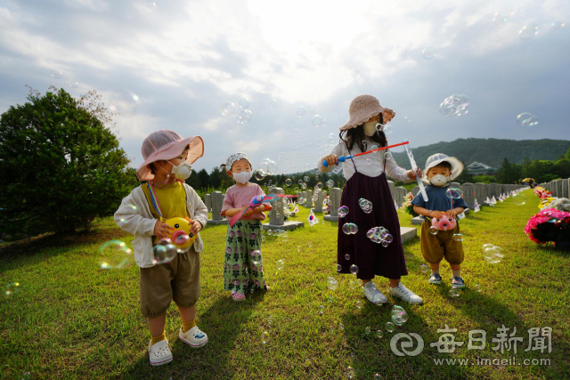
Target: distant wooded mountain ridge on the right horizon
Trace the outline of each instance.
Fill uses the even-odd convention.
[[[392,141],[390,141],[392,142]],[[499,168],[503,158],[509,162],[522,164],[525,157],[530,160],[557,160],[564,156],[570,148],[568,140],[506,140],[506,139],[457,139],[440,141],[435,144],[413,148],[411,152],[420,168],[426,165],[429,156],[444,153],[447,156],[459,158],[465,166],[473,161]],[[398,166],[410,168],[410,160],[405,152],[392,153]]]

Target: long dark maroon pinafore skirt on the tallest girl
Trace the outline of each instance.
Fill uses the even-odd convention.
[[[360,198],[372,202],[371,214],[366,214],[359,206]],[[387,279],[400,279],[408,274],[400,237],[400,222],[395,211],[394,199],[382,173],[378,177],[369,177],[355,173],[346,182],[340,198],[341,206],[348,206],[345,217],[338,218],[338,253],[339,273],[350,273],[350,266],[358,267],[358,279],[373,279],[375,275]],[[358,227],[355,234],[346,235],[342,226],[353,222]],[[388,247],[382,247],[366,237],[366,232],[373,227],[384,227],[394,237]],[[350,257],[346,260],[346,255]]]

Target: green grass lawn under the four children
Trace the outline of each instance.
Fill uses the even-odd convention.
[[[175,304],[167,312],[167,337],[174,361],[159,368],[149,364],[149,330],[138,302],[138,267],[102,270],[97,248],[110,239],[130,245],[132,237],[118,230],[111,218],[99,221],[93,232],[56,242],[46,235],[0,247],[0,284],[20,283],[14,295],[0,295],[0,377],[20,379],[140,378],[140,379],[342,379],[354,368],[354,378],[460,379],[460,378],[568,378],[570,363],[570,255],[553,247],[537,246],[523,231],[538,212],[538,198],[524,193],[517,198],[460,222],[465,235],[462,275],[467,288],[450,298],[449,265],[442,264],[441,286],[428,284],[419,239],[404,245],[409,275],[403,283],[424,299],[410,306],[387,295],[387,280],[376,278],[388,296],[383,306],[368,303],[352,275],[336,272],[337,223],[308,227],[308,209],[298,219],[305,228],[289,232],[288,239],[266,237],[263,254],[265,279],[271,290],[248,295],[234,303],[223,291],[225,226],[207,226],[201,232],[201,297],[198,324],[208,344],[193,350],[176,339],[180,318]],[[520,203],[520,202],[517,202]],[[411,217],[398,213],[402,226]],[[317,217],[322,218],[321,214]],[[414,226],[419,227],[419,226]],[[419,231],[418,231],[419,232]],[[418,233],[419,235],[419,233]],[[481,246],[504,248],[501,263],[486,263]],[[297,246],[301,251],[297,252]],[[284,259],[285,268],[276,269]],[[327,278],[338,279],[338,289],[327,288]],[[475,291],[478,284],[481,293]],[[362,308],[356,306],[362,302]],[[410,319],[394,333],[386,330],[393,305],[402,305]],[[324,313],[319,313],[319,306]],[[344,326],[344,329],[340,327]],[[455,341],[465,342],[455,352],[430,346],[456,328]],[[497,328],[522,337],[517,362],[550,360],[538,365],[477,365],[477,358],[507,359],[513,352],[494,351]],[[371,327],[371,334],[365,328]],[[551,352],[529,351],[528,330],[551,327]],[[382,330],[383,337],[376,336]],[[486,332],[484,350],[468,350],[468,332]],[[269,339],[262,343],[262,332]],[[424,340],[418,356],[396,356],[390,340],[396,333],[415,333]],[[439,359],[467,359],[468,365],[436,365]],[[540,361],[539,361],[540,363]]]

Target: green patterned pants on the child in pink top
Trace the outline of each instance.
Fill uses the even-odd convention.
[[[260,221],[228,224],[224,254],[224,290],[246,293],[248,289],[267,289],[261,250],[263,228]],[[258,255],[256,255],[258,254]]]

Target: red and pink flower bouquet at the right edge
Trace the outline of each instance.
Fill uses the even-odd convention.
[[[553,241],[557,249],[570,248],[570,213],[545,208],[526,222],[528,239],[538,244]]]

